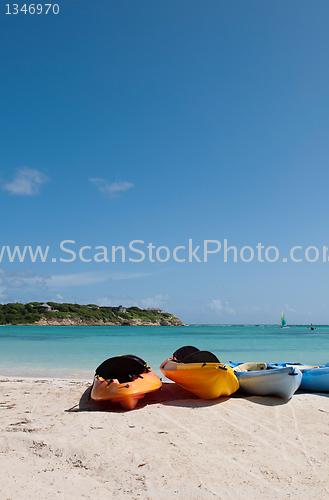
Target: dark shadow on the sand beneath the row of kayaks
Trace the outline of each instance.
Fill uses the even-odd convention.
[[[89,398],[91,391],[91,386],[86,389],[80,398],[79,403],[74,405],[65,411],[67,412],[85,412],[85,411],[99,411],[99,412],[110,412],[110,413],[124,413],[124,410],[119,403],[112,403],[111,401],[93,401]],[[231,398],[235,399],[245,399],[251,401],[255,404],[260,404],[264,406],[280,406],[287,403],[287,400],[275,398],[275,397],[265,397],[265,396],[250,396],[246,395],[240,391],[236,392]],[[164,382],[161,390],[156,392],[151,392],[146,394],[137,403],[134,410],[140,410],[145,408],[147,405],[161,404],[164,406],[178,406],[183,408],[203,408],[208,406],[215,406],[224,403],[228,399],[228,396],[223,396],[217,399],[206,400],[200,399],[191,392],[186,391],[182,387],[172,382]]]

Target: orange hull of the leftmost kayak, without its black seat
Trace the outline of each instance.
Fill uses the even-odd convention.
[[[153,370],[142,373],[130,382],[120,384],[118,380],[105,380],[100,376],[94,378],[90,397],[94,401],[112,401],[120,403],[126,410],[132,410],[145,394],[160,389],[162,383]]]

